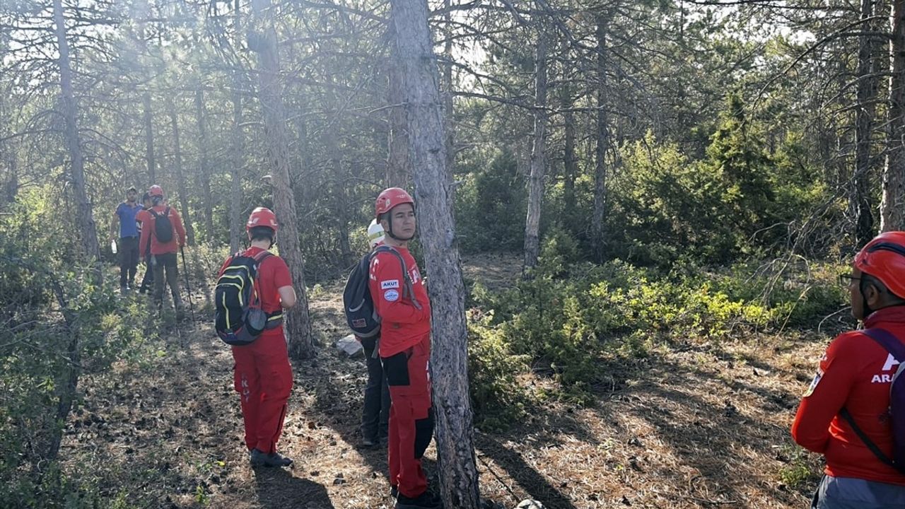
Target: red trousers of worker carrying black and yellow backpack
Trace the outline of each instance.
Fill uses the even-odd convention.
[[[242,397],[245,447],[276,452],[292,390],[292,367],[282,328],[233,347],[235,390]]]

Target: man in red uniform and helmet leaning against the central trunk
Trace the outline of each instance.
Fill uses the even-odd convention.
[[[431,401],[431,303],[408,243],[414,238],[414,199],[399,187],[376,200],[376,219],[384,228],[384,245],[371,259],[368,287],[380,317],[378,353],[390,389],[387,459],[395,509],[435,509],[440,502],[427,491],[421,466],[433,437]],[[404,272],[405,271],[405,272]]]

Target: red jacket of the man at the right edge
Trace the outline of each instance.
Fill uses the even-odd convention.
[[[873,312],[864,327],[884,329],[905,343],[905,307]],[[858,427],[891,457],[890,379],[898,364],[859,331],[843,332],[826,349],[792,425],[798,445],[824,455],[826,474],[905,485],[905,475],[874,456],[838,415],[848,408]]]

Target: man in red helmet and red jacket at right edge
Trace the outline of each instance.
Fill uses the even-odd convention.
[[[866,329],[905,343],[905,232],[874,238],[840,280]],[[843,332],[826,349],[792,425],[795,442],[826,459],[812,508],[905,507],[905,475],[887,463],[890,384],[900,361],[862,331]]]

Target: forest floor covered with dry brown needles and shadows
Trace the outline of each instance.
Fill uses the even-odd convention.
[[[491,287],[519,274],[512,256],[466,262],[466,277]],[[83,377],[66,468],[93,473],[104,495],[129,507],[392,507],[385,451],[359,445],[363,360],[331,348],[346,334],[340,294],[337,283],[311,296],[325,344],[293,366],[280,444],[290,469],[248,465],[233,360],[200,320],[140,362]],[[805,507],[819,460],[788,428],[825,340],[786,331],[664,342],[633,363],[601,365],[610,383],[595,389],[593,407],[547,404],[505,433],[476,433],[482,495],[550,509]],[[432,446],[429,474],[435,455]]]

